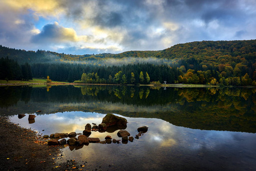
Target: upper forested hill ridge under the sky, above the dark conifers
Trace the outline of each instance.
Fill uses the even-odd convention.
[[[120,54],[85,54],[71,55],[59,54],[51,51],[26,51],[15,50],[0,46],[0,58],[14,59],[18,63],[38,63],[52,61],[83,61],[101,60],[104,58],[125,58],[125,57],[156,57],[165,59],[185,60],[188,63],[209,65],[230,64],[234,67],[240,63],[242,58],[254,63],[256,58],[256,40],[233,40],[233,41],[202,41],[184,44],[176,44],[170,48],[161,51],[126,51]]]

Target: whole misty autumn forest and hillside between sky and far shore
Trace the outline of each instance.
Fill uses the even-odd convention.
[[[256,40],[202,41],[176,44],[161,51],[68,55],[50,51],[15,50],[0,46],[0,57],[13,60],[1,79],[21,78],[21,65],[31,66],[35,78],[91,83],[149,82],[256,86]],[[6,68],[1,59],[1,65]],[[2,67],[1,67],[2,68]],[[121,71],[121,72],[120,72]],[[17,74],[15,74],[17,72]],[[141,72],[143,74],[141,74]],[[22,71],[24,75],[25,71]],[[90,76],[88,81],[82,75]],[[14,76],[15,75],[15,76]],[[96,75],[96,77],[95,77]]]

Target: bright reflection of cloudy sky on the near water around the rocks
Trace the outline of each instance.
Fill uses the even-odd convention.
[[[63,112],[36,116],[36,124],[28,124],[25,116],[11,118],[27,128],[55,132],[82,133],[87,123],[100,124],[105,115],[91,112]],[[119,115],[120,116],[120,115]],[[174,126],[160,119],[125,117],[127,131],[135,137],[137,128],[147,125],[148,132],[127,144],[94,144],[82,148],[64,148],[59,160],[88,161],[86,169],[101,166],[102,170],[246,170],[256,168],[253,133],[201,131]],[[24,123],[23,123],[24,122]],[[90,137],[101,141],[110,135],[120,139],[117,132],[92,132]],[[104,158],[104,160],[102,160]],[[89,162],[90,161],[90,162]],[[109,167],[111,165],[111,167]]]

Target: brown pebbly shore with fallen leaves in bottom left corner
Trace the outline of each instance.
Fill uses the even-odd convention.
[[[0,117],[1,170],[51,170],[52,158],[58,157],[61,146],[48,146],[46,140],[31,129]]]

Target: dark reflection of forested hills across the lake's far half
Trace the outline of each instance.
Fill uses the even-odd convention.
[[[193,129],[256,132],[255,88],[0,87],[1,115],[65,111],[158,118]]]

